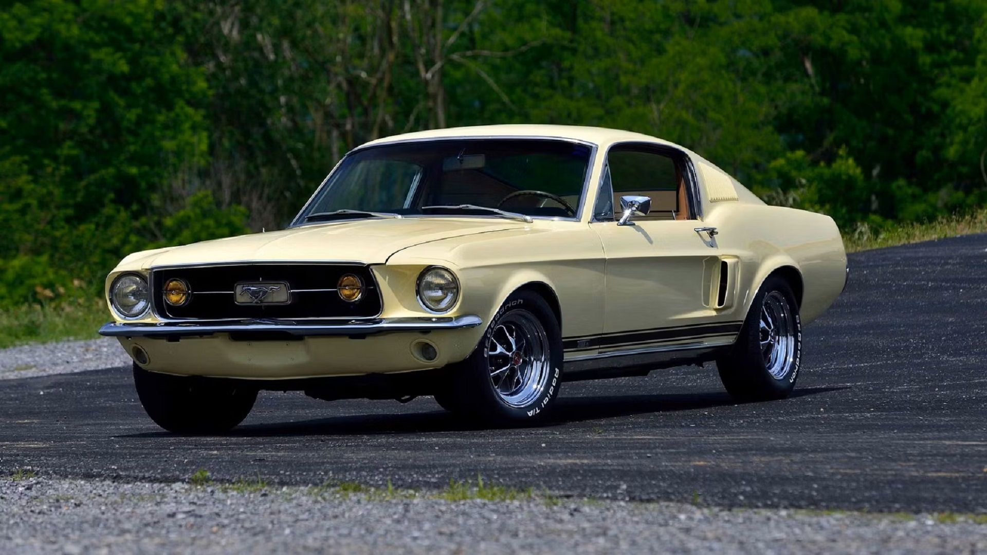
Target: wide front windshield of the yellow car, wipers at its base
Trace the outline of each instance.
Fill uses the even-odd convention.
[[[343,159],[294,223],[417,215],[575,217],[591,152],[585,144],[555,139],[366,148]]]

